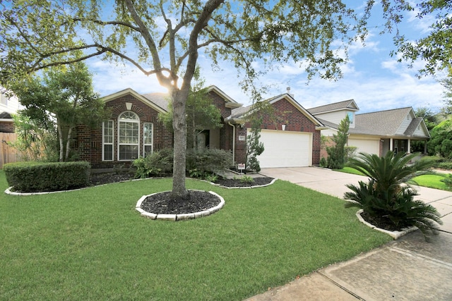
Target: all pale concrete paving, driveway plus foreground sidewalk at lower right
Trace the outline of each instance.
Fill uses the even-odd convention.
[[[367,180],[324,168],[263,168],[261,174],[340,198],[345,184]],[[415,231],[247,300],[452,300],[452,193],[417,189],[443,215],[430,242]]]

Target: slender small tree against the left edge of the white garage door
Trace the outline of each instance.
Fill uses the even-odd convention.
[[[263,153],[263,143],[261,138],[262,118],[251,119],[251,133],[246,137],[246,163],[245,169],[250,171],[261,171],[261,166],[257,156]]]

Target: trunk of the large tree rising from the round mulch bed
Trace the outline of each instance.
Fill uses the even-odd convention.
[[[186,172],[186,116],[185,104],[188,90],[174,90],[172,92],[174,130],[174,166],[172,175],[172,193],[175,197],[188,198],[189,192],[185,188]]]

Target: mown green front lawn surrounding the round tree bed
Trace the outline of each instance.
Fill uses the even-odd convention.
[[[391,240],[343,200],[282,180],[227,190],[217,213],[145,219],[172,179],[0,197],[0,300],[243,300]],[[7,187],[0,171],[0,189]]]

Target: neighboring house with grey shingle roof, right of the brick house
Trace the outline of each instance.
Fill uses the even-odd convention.
[[[359,108],[350,99],[308,111],[328,127],[322,130],[326,136],[337,133],[338,123],[348,115],[351,123],[347,145],[357,147],[357,152],[383,156],[391,149],[410,153],[413,140],[427,143],[430,137],[424,120],[417,118],[411,107],[357,114]]]

